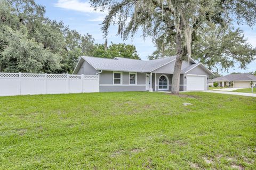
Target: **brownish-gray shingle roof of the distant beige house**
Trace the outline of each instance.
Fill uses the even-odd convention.
[[[209,80],[209,82],[215,82],[215,81],[256,81],[256,76],[251,74],[229,74],[225,76],[221,76],[212,80]]]

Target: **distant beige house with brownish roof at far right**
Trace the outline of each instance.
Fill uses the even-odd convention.
[[[250,88],[251,84],[253,84],[253,86],[256,85],[256,76],[246,73],[229,74],[209,80],[209,85],[213,86],[213,82],[218,82],[220,87],[231,87],[231,84],[233,83],[233,87]]]

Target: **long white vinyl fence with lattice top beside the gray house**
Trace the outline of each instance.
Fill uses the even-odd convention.
[[[0,96],[99,92],[99,75],[0,73]]]

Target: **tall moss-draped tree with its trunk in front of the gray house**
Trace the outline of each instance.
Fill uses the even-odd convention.
[[[127,39],[142,28],[143,37],[152,37],[155,44],[174,45],[177,58],[172,78],[172,93],[179,93],[181,64],[191,57],[193,35],[212,23],[226,27],[234,19],[255,24],[254,0],[91,0],[95,8],[108,11],[102,22],[105,37],[111,24],[118,24],[118,33]]]

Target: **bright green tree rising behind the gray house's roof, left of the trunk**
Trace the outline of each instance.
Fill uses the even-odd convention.
[[[139,60],[139,55],[134,45],[126,45],[124,43],[113,44],[105,50],[105,45],[97,44],[94,48],[93,56],[104,57],[104,58],[114,58],[114,57],[124,57]]]

